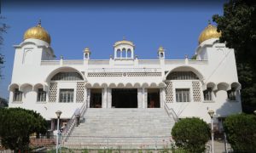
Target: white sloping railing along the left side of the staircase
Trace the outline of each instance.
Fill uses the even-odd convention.
[[[84,101],[84,104],[80,108],[80,118],[84,118],[84,114],[87,111],[88,107],[86,106],[87,100]],[[73,116],[70,118],[70,120],[67,122],[67,126],[64,127],[62,132],[62,143],[64,143],[69,135],[73,132],[73,128],[76,124],[76,116],[75,113],[73,113]]]

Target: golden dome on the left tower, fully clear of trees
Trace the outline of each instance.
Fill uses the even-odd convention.
[[[23,37],[23,40],[34,38],[39,39],[44,42],[48,42],[50,44],[50,37],[49,33],[44,30],[44,28],[41,26],[41,21],[39,21],[38,26],[34,26],[32,28],[29,28]]]

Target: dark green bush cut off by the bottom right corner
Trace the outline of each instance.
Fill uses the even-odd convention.
[[[235,152],[255,152],[256,116],[237,114],[224,121],[224,131]]]

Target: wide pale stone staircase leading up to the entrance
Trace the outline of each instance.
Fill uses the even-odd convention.
[[[68,148],[162,148],[174,120],[156,109],[88,109],[64,143]]]

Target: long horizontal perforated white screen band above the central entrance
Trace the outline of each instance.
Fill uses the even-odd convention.
[[[161,72],[90,72],[88,77],[161,77]]]

